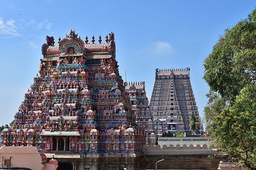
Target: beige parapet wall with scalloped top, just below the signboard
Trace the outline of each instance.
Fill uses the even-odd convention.
[[[160,145],[144,145],[143,150],[146,154],[173,154],[173,155],[180,155],[180,154],[214,154],[216,153],[216,149],[211,149],[206,144],[203,144],[202,147],[200,144],[197,144],[194,146],[193,144],[187,146],[183,145],[182,147],[177,144],[176,146],[169,145],[163,145],[161,148]]]

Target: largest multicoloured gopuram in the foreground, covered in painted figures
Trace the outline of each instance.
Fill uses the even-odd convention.
[[[39,75],[2,138],[31,140],[45,151],[133,153],[146,143],[146,131],[119,75],[114,33],[88,43],[75,31],[65,38],[47,36]],[[150,116],[149,116],[150,117]],[[149,118],[148,118],[149,119]],[[150,127],[152,123],[150,123]],[[3,142],[3,141],[2,141]]]

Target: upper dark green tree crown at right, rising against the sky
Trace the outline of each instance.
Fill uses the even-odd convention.
[[[225,30],[203,66],[203,78],[211,91],[218,92],[228,103],[235,101],[246,84],[255,84],[256,10]]]

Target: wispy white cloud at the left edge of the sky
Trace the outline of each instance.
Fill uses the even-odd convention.
[[[14,25],[16,21],[15,20],[7,20],[4,22],[3,17],[0,17],[0,34],[4,36],[20,36],[17,32],[17,27]]]

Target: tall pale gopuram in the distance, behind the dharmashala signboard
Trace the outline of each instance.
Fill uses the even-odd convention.
[[[164,132],[188,132],[189,117],[199,117],[192,91],[190,68],[156,69],[150,100],[154,127],[158,135]],[[200,130],[203,132],[202,124]]]

